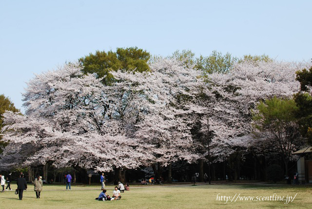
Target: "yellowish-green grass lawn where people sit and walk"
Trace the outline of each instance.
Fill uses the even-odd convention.
[[[14,191],[0,193],[1,208],[10,209],[262,209],[262,208],[312,208],[311,186],[262,186],[262,185],[176,185],[176,186],[132,186],[121,193],[121,200],[97,201],[100,186],[72,186],[66,191],[64,185],[44,185],[40,199],[36,198],[33,186],[18,200]],[[114,186],[108,186],[112,195]],[[16,189],[16,185],[12,189]],[[217,200],[218,196],[295,196],[288,204],[284,201],[251,201],[230,199]],[[222,198],[223,199],[223,198]],[[226,204],[225,204],[226,203]]]

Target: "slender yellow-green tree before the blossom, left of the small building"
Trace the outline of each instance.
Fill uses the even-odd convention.
[[[272,99],[260,102],[253,113],[255,128],[269,140],[272,148],[280,154],[286,167],[296,146],[302,145],[296,112],[298,107],[293,99]]]

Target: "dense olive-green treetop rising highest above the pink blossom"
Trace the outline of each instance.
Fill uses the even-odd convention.
[[[81,57],[79,61],[84,66],[84,73],[96,73],[98,78],[102,78],[104,85],[109,85],[114,79],[111,70],[147,71],[150,57],[150,53],[146,50],[130,47],[117,48],[116,52],[96,51],[94,54]]]

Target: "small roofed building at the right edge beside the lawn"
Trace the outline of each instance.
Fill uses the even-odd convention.
[[[312,183],[312,146],[298,150],[292,155],[299,156],[297,161],[299,183]]]

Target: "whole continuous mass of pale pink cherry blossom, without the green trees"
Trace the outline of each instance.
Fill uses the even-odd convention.
[[[178,160],[243,158],[263,141],[251,135],[251,111],[264,99],[291,97],[299,89],[294,72],[303,68],[247,60],[203,76],[185,63],[158,57],[150,71],[112,71],[108,86],[78,63],[36,75],[23,94],[25,116],[3,115],[10,143],[1,163],[123,173],[151,165],[160,177]]]

